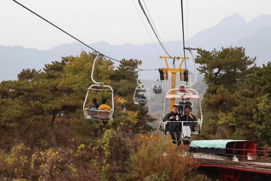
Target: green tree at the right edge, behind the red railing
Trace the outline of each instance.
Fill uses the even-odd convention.
[[[234,114],[240,115],[240,121],[243,121],[240,122],[239,125],[240,127],[242,127],[240,132],[246,135],[247,139],[259,139],[261,143],[263,143],[263,139],[265,136],[259,136],[259,127],[256,125],[262,125],[261,122],[263,121],[262,119],[260,119],[258,113],[262,112],[263,114],[267,114],[266,110],[268,110],[268,103],[266,103],[266,99],[267,93],[271,92],[270,81],[270,62],[268,62],[267,65],[263,65],[263,67],[255,68],[253,74],[244,79],[244,84],[240,88],[240,91],[238,91],[237,93],[237,107],[234,110]],[[266,110],[264,110],[264,107],[262,107],[263,103],[266,104]],[[252,110],[254,111],[252,112]],[[268,117],[268,114],[266,116]],[[264,119],[267,119],[267,117],[265,117]],[[266,121],[268,122],[268,120]],[[265,127],[265,129],[268,130],[267,127]],[[251,133],[256,133],[256,135]],[[268,134],[266,136],[268,137]]]

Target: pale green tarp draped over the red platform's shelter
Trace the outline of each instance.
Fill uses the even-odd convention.
[[[225,149],[227,143],[236,141],[246,140],[193,140],[190,144],[190,147]]]

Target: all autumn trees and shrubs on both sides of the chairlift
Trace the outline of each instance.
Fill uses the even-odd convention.
[[[208,85],[202,100],[202,134],[193,139],[271,141],[271,64],[254,65],[243,48],[198,49],[196,62]],[[93,78],[114,90],[114,118],[107,124],[84,118],[83,102],[96,55],[82,51],[22,70],[0,84],[0,179],[209,180],[196,175],[195,161],[162,134],[150,134],[155,118],[133,103],[141,61],[96,61]],[[130,67],[131,65],[133,67]],[[203,90],[205,89],[202,88]],[[136,95],[139,96],[139,95]],[[110,92],[91,92],[86,105]],[[160,107],[159,107],[160,108]],[[154,108],[152,108],[154,109]]]

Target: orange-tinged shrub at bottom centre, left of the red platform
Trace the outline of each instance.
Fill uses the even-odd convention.
[[[193,158],[187,157],[170,141],[165,141],[161,134],[140,134],[138,150],[131,154],[128,177],[131,180],[148,180],[167,175],[165,180],[188,180],[195,168]]]

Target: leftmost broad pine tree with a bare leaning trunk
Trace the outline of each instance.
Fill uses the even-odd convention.
[[[56,116],[81,107],[72,90],[59,87],[65,66],[65,60],[52,62],[45,65],[44,72],[23,70],[18,74],[18,81],[2,82],[4,99],[1,102],[9,106],[2,110],[1,122],[22,131],[21,136],[33,133],[34,129],[45,137],[49,126],[54,147],[58,147],[54,130]]]

